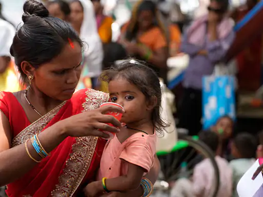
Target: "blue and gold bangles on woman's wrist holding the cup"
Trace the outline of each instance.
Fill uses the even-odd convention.
[[[39,154],[43,159],[47,156],[49,156],[49,154],[47,153],[47,151],[43,148],[42,144],[40,143],[39,137],[36,135],[34,135],[33,137],[31,137],[31,143],[32,146],[34,147],[35,151],[37,152],[37,154]],[[27,140],[28,141],[28,140]],[[28,156],[35,162],[39,163],[40,161],[35,160],[32,155],[30,154],[28,147],[27,147],[27,141],[25,143],[25,147],[26,147],[26,151]]]

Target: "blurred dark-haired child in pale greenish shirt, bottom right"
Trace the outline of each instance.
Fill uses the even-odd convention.
[[[231,153],[235,157],[230,162],[233,170],[233,197],[238,197],[236,187],[245,172],[255,163],[257,141],[249,133],[238,134],[232,142]]]

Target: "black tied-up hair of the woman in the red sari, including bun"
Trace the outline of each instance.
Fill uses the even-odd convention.
[[[10,53],[14,56],[24,83],[27,78],[21,68],[23,61],[38,68],[58,56],[69,43],[69,39],[83,47],[76,31],[67,22],[49,16],[48,10],[42,3],[27,1],[24,4],[22,20],[24,24],[13,38]]]

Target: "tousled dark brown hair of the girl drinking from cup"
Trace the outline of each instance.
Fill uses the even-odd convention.
[[[146,63],[145,63],[146,64]],[[161,85],[157,74],[144,62],[129,59],[121,64],[111,66],[101,74],[101,80],[109,83],[110,81],[123,77],[129,83],[134,84],[145,95],[146,100],[151,100],[153,96],[157,98],[157,105],[153,109],[152,121],[156,131],[163,134],[163,130],[170,124],[165,123],[160,116],[161,107]]]

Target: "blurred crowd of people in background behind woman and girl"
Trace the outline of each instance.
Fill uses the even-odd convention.
[[[111,24],[114,18],[104,15],[100,0],[63,0],[46,2],[49,13],[67,21],[86,42],[83,51],[82,74],[77,89],[93,88],[107,91],[99,80],[103,69],[127,56],[149,63],[160,78],[167,83],[167,58],[178,53],[190,56],[189,66],[183,80],[183,94],[178,106],[178,127],[196,135],[202,129],[202,76],[213,73],[231,47],[235,33],[233,22],[238,22],[255,5],[256,0],[228,12],[228,0],[211,0],[209,13],[198,17],[185,32],[178,24],[171,22],[170,13],[158,10],[150,0],[138,1],[130,20],[121,27],[117,42],[112,42]],[[0,6],[0,90],[18,91],[24,85],[18,80],[15,63],[10,56],[10,46],[15,27],[1,14]],[[236,57],[237,79],[242,90],[255,91],[260,87],[261,37]],[[249,67],[247,65],[250,65]],[[221,176],[218,196],[237,197],[236,185],[241,176],[263,155],[262,132],[258,139],[248,133],[233,135],[233,120],[222,116],[209,131],[199,133],[200,140],[216,154]],[[193,178],[178,180],[172,190],[172,197],[209,196],[210,180],[203,180],[204,174],[212,174],[211,166],[202,160],[195,167]],[[1,196],[1,194],[0,194]]]

